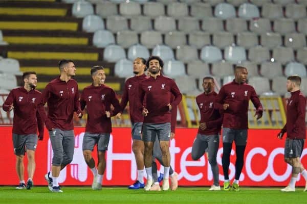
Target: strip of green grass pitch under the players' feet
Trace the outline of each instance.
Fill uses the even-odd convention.
[[[307,203],[307,192],[280,192],[280,188],[240,187],[234,191],[208,191],[208,187],[179,187],[177,191],[145,192],[124,187],[103,187],[94,191],[91,187],[62,187],[63,193],[52,193],[47,187],[16,190],[13,186],[0,187],[0,203]]]

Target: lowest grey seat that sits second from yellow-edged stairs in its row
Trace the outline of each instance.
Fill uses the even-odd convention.
[[[138,34],[135,31],[119,31],[116,34],[116,42],[123,48],[139,43]]]

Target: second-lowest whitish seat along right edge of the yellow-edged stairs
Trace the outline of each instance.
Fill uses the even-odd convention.
[[[125,58],[125,50],[119,45],[108,45],[103,50],[103,60],[107,62],[117,62]]]

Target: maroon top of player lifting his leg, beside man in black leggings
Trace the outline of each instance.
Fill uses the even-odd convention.
[[[209,94],[202,93],[196,97],[196,103],[201,113],[201,123],[206,122],[207,129],[201,130],[198,133],[202,135],[215,135],[221,131],[223,117],[220,114],[219,108],[215,106],[215,98],[217,93]]]

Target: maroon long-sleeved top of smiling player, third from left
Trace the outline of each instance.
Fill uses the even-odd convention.
[[[86,106],[87,121],[85,132],[89,133],[111,133],[111,118],[107,118],[105,111],[110,111],[111,116],[120,111],[119,101],[114,90],[108,86],[87,86],[83,89],[80,98],[81,109]],[[111,111],[111,104],[114,110]]]

